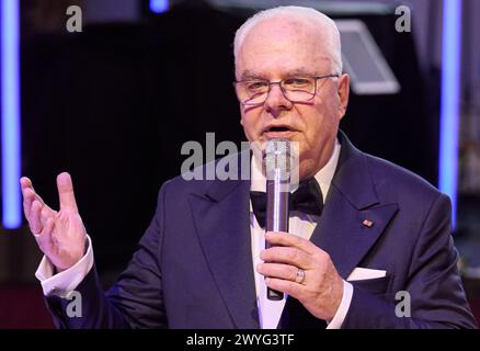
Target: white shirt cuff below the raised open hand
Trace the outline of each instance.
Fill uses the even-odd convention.
[[[42,259],[35,276],[41,281],[45,296],[57,295],[60,297],[71,293],[87,276],[93,267],[92,240],[89,236],[87,253],[76,264],[54,275],[54,265],[46,256]]]

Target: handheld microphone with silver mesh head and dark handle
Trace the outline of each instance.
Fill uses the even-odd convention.
[[[288,201],[290,195],[290,140],[271,139],[265,147],[266,171],[266,231],[288,231]],[[271,245],[266,242],[266,248]],[[284,298],[282,292],[267,288],[272,301]]]

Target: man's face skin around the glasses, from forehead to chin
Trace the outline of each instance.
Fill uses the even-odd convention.
[[[324,76],[333,71],[318,30],[283,18],[265,20],[247,35],[236,61],[237,80]],[[261,105],[240,104],[241,124],[250,141],[288,138],[299,143],[300,180],[313,177],[330,159],[340,120],[348,101],[348,77],[317,80],[309,102],[292,103],[278,84]]]

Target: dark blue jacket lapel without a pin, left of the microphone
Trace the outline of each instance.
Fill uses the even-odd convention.
[[[237,328],[260,328],[251,252],[248,181],[213,181],[190,204],[206,260]]]

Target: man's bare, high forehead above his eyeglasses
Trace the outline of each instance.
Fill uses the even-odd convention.
[[[243,71],[329,70],[331,56],[321,30],[308,21],[285,18],[264,20],[245,35],[236,59],[236,75]],[[312,71],[312,72],[313,72]]]

